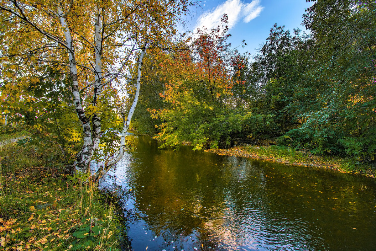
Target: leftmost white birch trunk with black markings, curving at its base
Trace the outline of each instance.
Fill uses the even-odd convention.
[[[73,105],[76,108],[76,113],[79,120],[82,123],[83,127],[83,145],[81,151],[76,156],[76,161],[74,161],[74,167],[81,171],[87,171],[86,168],[89,166],[90,160],[92,155],[94,154],[94,144],[91,138],[91,127],[88,118],[83,111],[80,93],[79,93],[79,85],[78,85],[78,76],[77,76],[77,64],[74,54],[74,45],[73,40],[71,37],[71,33],[68,27],[68,23],[66,18],[64,17],[64,12],[62,11],[61,6],[58,4],[58,17],[60,19],[60,23],[64,32],[65,36],[65,43],[68,50],[69,56],[69,69],[70,69],[70,79],[73,83],[72,85],[72,93],[73,93]]]

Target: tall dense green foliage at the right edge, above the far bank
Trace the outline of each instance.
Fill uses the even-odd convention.
[[[308,9],[304,22],[317,41],[317,62],[307,76],[326,87],[318,88],[320,106],[304,114],[306,122],[300,132],[289,132],[281,142],[300,141],[318,153],[374,161],[375,8],[367,1],[327,0]]]

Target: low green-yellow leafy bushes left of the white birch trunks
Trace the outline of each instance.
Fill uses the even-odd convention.
[[[1,111],[8,123],[2,127],[3,133],[27,131],[27,137],[19,143],[36,147],[39,152],[60,145],[64,161],[72,164],[80,128],[69,105],[69,83],[50,67],[39,74],[14,74],[17,78],[5,78],[1,86]]]

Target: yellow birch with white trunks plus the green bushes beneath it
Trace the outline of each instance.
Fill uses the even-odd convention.
[[[102,129],[120,126],[113,114],[116,108],[121,110],[117,90],[133,90],[131,73],[136,66],[136,105],[144,54],[171,48],[176,25],[190,5],[188,1],[3,1],[2,105],[8,108],[4,110],[8,121],[20,123],[18,128],[31,132],[31,138],[58,144],[64,155],[70,152],[75,156],[73,163],[68,161],[72,170],[86,169],[106,132]],[[124,119],[118,154],[112,158],[109,153],[106,165],[122,156],[135,105]],[[46,133],[51,128],[54,132]],[[75,144],[69,148],[67,141]]]

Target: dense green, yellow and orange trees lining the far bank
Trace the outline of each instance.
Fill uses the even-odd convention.
[[[163,146],[273,139],[374,162],[375,7],[314,2],[303,16],[308,34],[275,24],[253,57],[227,43],[224,16],[184,53],[147,57],[133,126]]]

